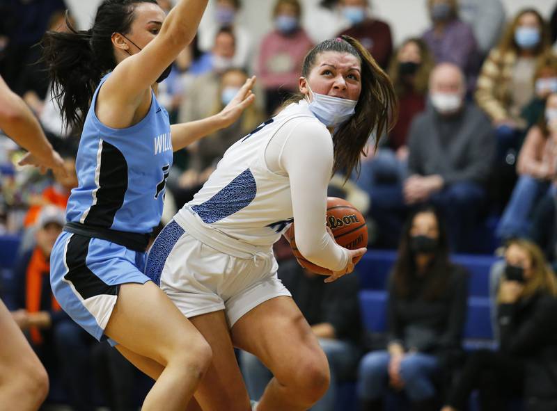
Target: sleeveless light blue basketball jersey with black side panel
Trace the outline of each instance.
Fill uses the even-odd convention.
[[[87,113],[77,152],[78,186],[72,190],[70,222],[145,234],[162,216],[166,178],[173,151],[168,113],[152,92],[140,122],[112,129],[95,114],[101,80]]]

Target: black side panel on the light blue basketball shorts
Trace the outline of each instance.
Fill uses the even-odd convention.
[[[71,282],[84,300],[102,294],[118,296],[119,285],[107,284],[88,268],[86,259],[90,242],[91,238],[89,237],[79,234],[72,235],[68,242],[68,251],[65,257],[68,274],[64,275],[64,280]]]

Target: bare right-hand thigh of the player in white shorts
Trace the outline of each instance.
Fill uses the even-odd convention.
[[[327,357],[290,297],[272,298],[242,316],[233,325],[232,339],[259,357],[283,384],[306,382],[308,376],[329,378]]]

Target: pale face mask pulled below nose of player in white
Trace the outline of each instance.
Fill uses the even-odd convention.
[[[307,80],[306,84],[311,95],[313,95],[313,100],[309,103],[309,109],[317,117],[317,120],[327,127],[338,126],[338,124],[349,120],[356,112],[357,100],[319,94],[311,90]]]

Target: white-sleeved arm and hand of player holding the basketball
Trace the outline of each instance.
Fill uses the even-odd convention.
[[[327,232],[325,222],[327,186],[333,170],[329,131],[313,121],[297,124],[286,138],[278,164],[290,180],[295,239],[301,255],[338,276],[352,271],[352,254],[356,250],[338,245]]]

